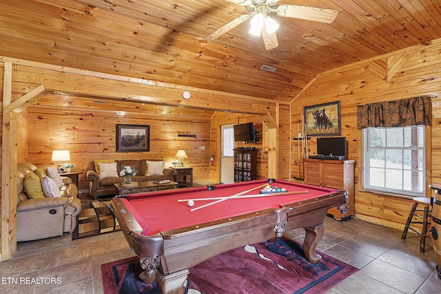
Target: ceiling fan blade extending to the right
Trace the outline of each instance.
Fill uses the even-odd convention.
[[[298,5],[281,5],[277,8],[280,17],[294,17],[295,19],[306,19],[308,21],[319,21],[320,23],[331,23],[336,19],[338,11],[328,8],[317,8]]]

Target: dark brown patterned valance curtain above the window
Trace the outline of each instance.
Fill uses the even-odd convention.
[[[430,96],[358,105],[357,129],[430,125]]]

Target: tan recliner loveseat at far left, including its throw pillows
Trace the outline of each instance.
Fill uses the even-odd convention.
[[[55,167],[53,169],[57,172]],[[81,212],[78,187],[70,178],[59,176],[57,180],[60,178],[61,187],[48,174],[48,167],[37,169],[30,162],[17,165],[18,242],[51,238],[74,231],[76,216]]]

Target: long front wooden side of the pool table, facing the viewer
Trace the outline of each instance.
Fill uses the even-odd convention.
[[[345,203],[345,191],[336,192],[302,203],[293,203],[288,211],[287,231],[302,227],[322,227],[327,210]],[[277,209],[247,213],[242,217],[219,222],[207,222],[187,231],[163,231],[164,255],[161,256],[161,273],[182,271],[225,251],[264,242],[275,237]],[[211,224],[211,225],[209,225]]]

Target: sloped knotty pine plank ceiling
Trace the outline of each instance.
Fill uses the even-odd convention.
[[[338,10],[332,23],[271,14],[265,50],[223,0],[0,0],[0,56],[289,102],[320,72],[441,38],[439,0],[280,0]],[[261,70],[262,65],[276,72]]]

